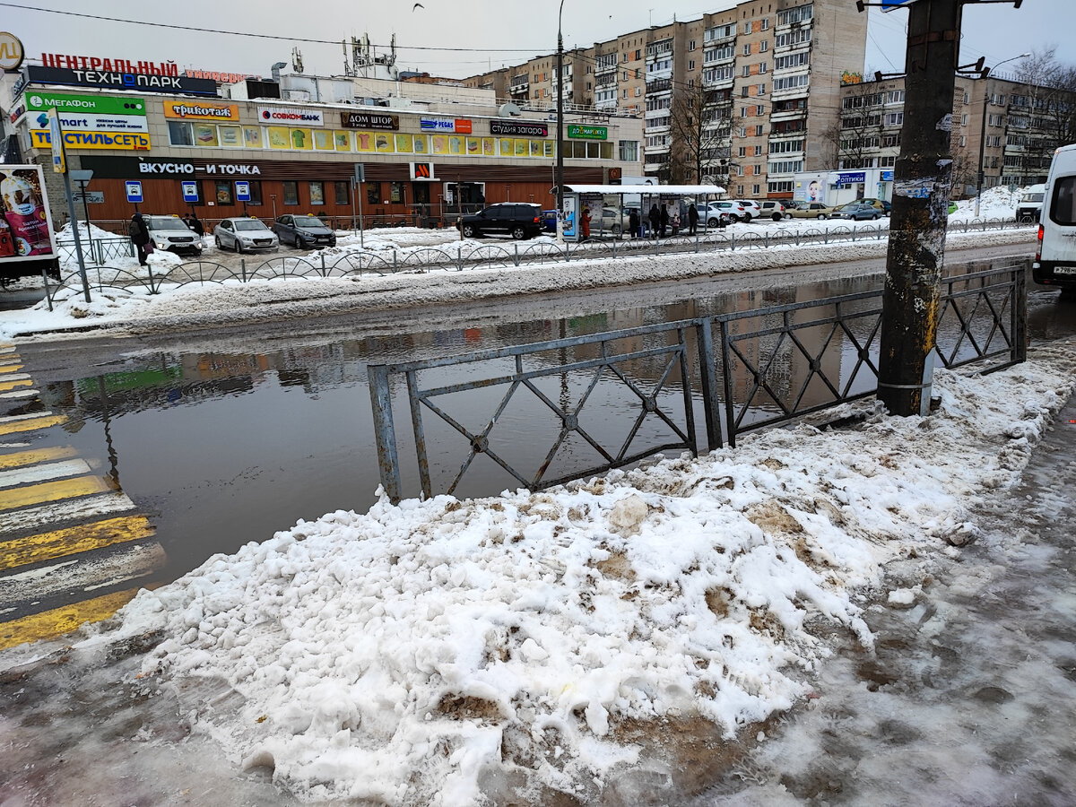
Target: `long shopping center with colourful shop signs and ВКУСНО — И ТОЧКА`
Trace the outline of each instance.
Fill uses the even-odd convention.
[[[41,61],[23,68],[0,102],[22,159],[46,166],[45,113],[58,110],[69,168],[94,172],[86,189],[95,222],[130,217],[131,181],[141,183],[142,212],[193,209],[207,222],[299,212],[351,226],[362,212],[371,222],[438,226],[499,201],[555,207],[555,116],[528,115],[492,91],[298,74],[220,85],[168,75],[167,63],[116,70],[95,59],[98,69],[87,69],[88,57],[49,54]],[[640,115],[574,112],[564,133],[565,182],[641,175]],[[61,211],[62,185],[46,174]]]

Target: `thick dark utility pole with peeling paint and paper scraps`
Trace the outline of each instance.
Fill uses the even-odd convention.
[[[942,267],[952,185],[952,96],[960,54],[960,0],[914,0],[909,9],[904,125],[893,172],[878,398],[891,414],[931,406]]]

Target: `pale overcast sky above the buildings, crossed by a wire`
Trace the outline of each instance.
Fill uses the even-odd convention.
[[[387,44],[396,34],[401,68],[463,77],[491,67],[514,65],[556,49],[556,0],[22,0],[23,6],[91,13],[104,17],[138,18],[197,28],[272,36],[335,40],[369,33],[371,42]],[[848,14],[856,14],[847,0]],[[723,11],[735,0],[692,1],[677,4],[680,20],[705,12]],[[869,10],[867,72],[903,69],[907,12]],[[62,16],[0,4],[0,28],[23,40],[27,55],[42,52],[131,60],[173,59],[181,68],[269,74],[274,61],[288,61],[293,45],[302,51],[308,73],[339,73],[343,55],[339,44],[314,44],[221,33],[169,30],[103,19]],[[565,47],[589,46],[596,41],[647,26],[671,22],[670,5],[656,0],[565,0]],[[965,6],[961,61],[986,56],[993,65],[1010,56],[1058,45],[1058,56],[1076,63],[1076,2],[1024,0],[1020,10],[1010,4]],[[415,47],[458,48],[456,51]],[[504,49],[498,49],[504,48]],[[1002,70],[1011,68],[1011,65]]]

